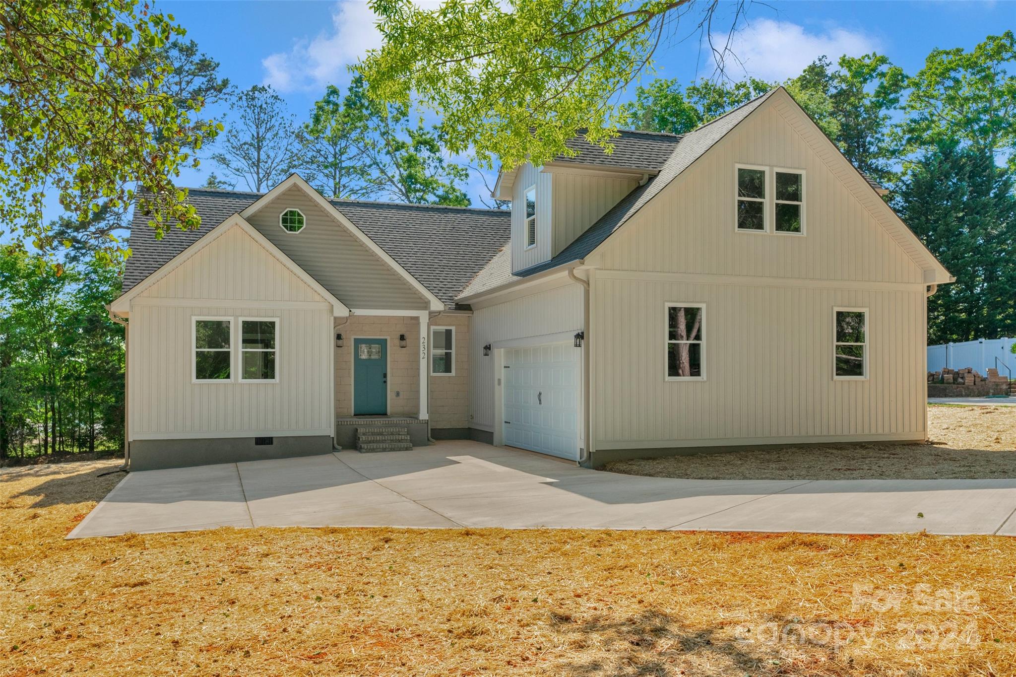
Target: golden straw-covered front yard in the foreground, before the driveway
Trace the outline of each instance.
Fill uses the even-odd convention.
[[[64,541],[119,479],[97,477],[115,465],[0,471],[0,674],[944,676],[1016,665],[1012,539],[224,529]],[[865,584],[884,595],[878,605],[854,594]],[[915,586],[944,592],[918,608]],[[953,591],[977,598],[957,605]]]

